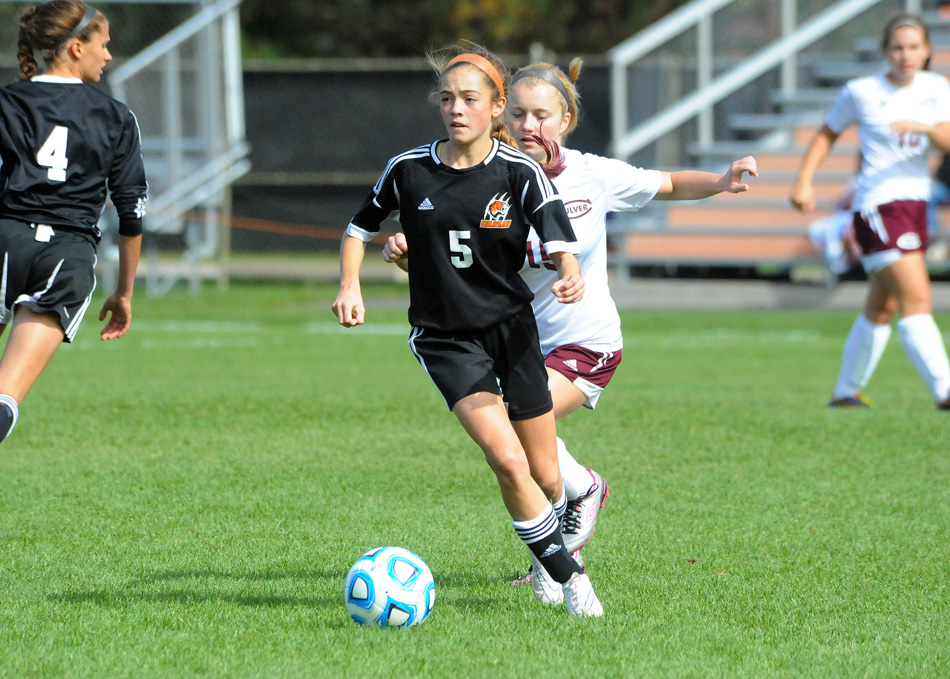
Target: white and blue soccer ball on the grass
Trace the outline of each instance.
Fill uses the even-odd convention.
[[[408,549],[379,547],[356,560],[343,594],[358,625],[412,627],[432,612],[435,582],[425,561]]]

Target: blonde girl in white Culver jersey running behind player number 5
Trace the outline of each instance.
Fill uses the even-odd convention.
[[[580,95],[575,83],[582,63],[580,59],[571,62],[570,76],[547,63],[522,68],[512,79],[506,113],[518,148],[544,164],[564,199],[586,283],[584,298],[576,304],[552,303],[545,293],[557,272],[537,234],[529,232],[521,275],[535,294],[532,307],[558,419],[581,406],[593,409],[620,363],[620,316],[607,285],[607,213],[639,210],[651,199],[691,200],[723,191],[741,193],[749,188],[742,182],[743,174],[757,174],[751,157],[735,161],[720,176],[693,170],[644,170],[563,148],[564,138],[579,118]],[[408,248],[400,234],[389,239],[383,256],[407,266]],[[558,462],[568,498],[564,541],[572,551],[579,550],[593,534],[607,484],[600,474],[578,464],[560,438]],[[549,588],[538,580],[529,575],[514,584],[530,581],[541,598]]]

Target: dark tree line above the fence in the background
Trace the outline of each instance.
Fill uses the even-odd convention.
[[[418,57],[462,40],[597,54],[686,0],[244,0],[248,57]]]

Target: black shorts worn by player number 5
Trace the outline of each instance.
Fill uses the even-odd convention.
[[[531,419],[554,407],[530,306],[486,329],[413,328],[409,347],[449,410],[481,391],[499,394],[512,420]]]

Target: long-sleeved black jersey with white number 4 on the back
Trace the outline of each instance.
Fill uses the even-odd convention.
[[[0,217],[90,231],[106,192],[119,232],[142,232],[148,186],[135,116],[78,79],[0,89]]]

